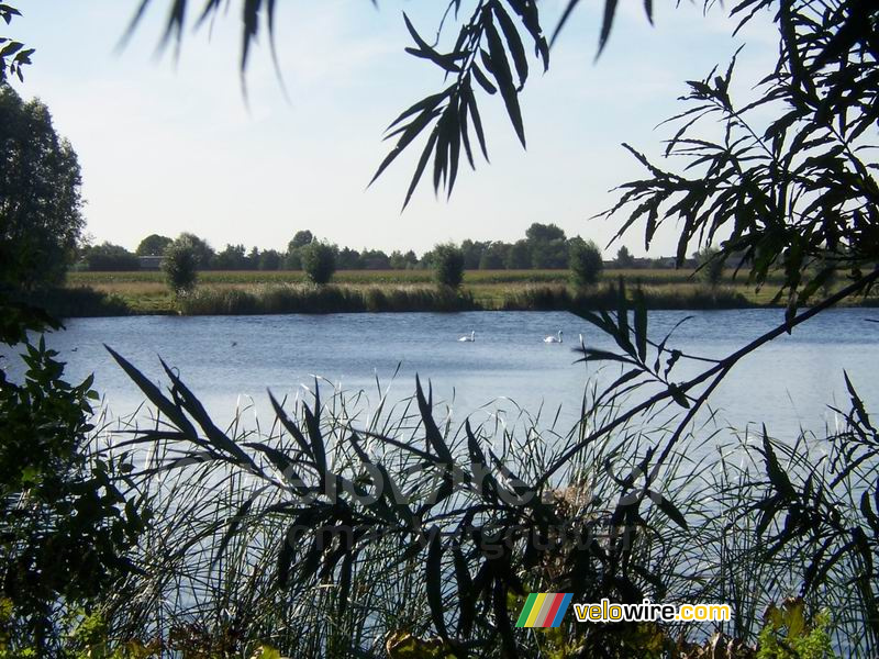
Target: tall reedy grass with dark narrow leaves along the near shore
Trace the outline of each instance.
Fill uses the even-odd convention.
[[[270,427],[245,423],[244,411],[220,431],[167,375],[170,395],[143,383],[160,416],[114,449],[143,456],[134,478],[155,511],[135,557],[142,571],[108,602],[115,639],[247,657],[262,644],[290,657],[385,657],[403,640],[458,656],[630,657],[715,629],[753,644],[766,606],[803,592],[810,611],[831,611],[837,647],[860,657],[876,648],[876,574],[849,540],[868,528],[855,494],[875,488],[877,449],[852,415],[826,457],[805,437],[755,444],[746,434],[693,461],[685,443],[645,507],[627,501],[670,432],[658,417],[617,427],[542,479],[615,418],[621,401],[596,405],[594,390],[566,429],[521,410],[454,422],[420,386],[391,405],[380,387],[370,401],[321,396],[315,382],[303,400],[272,401]],[[688,442],[704,446],[715,431],[692,432]],[[846,462],[854,449],[871,459]],[[804,527],[815,535],[780,543],[795,529],[789,516],[811,510],[789,505],[798,493],[821,498]],[[576,602],[724,602],[734,618],[644,627],[569,615],[552,634],[513,627],[524,595],[547,591]]]

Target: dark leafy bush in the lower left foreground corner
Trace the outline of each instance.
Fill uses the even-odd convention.
[[[64,379],[57,353],[25,344],[22,383],[0,371],[0,597],[8,648],[42,656],[65,608],[99,597],[131,569],[147,516],[120,490],[126,456],[89,456],[92,378]],[[120,480],[121,479],[121,480]]]

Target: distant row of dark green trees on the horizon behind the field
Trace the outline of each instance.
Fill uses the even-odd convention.
[[[215,250],[204,238],[182,233],[177,238],[188,242],[197,253],[200,270],[302,270],[303,249],[319,238],[309,230],[298,231],[285,249],[247,249],[243,244],[227,244]],[[571,250],[583,243],[580,236],[568,237],[556,224],[533,223],[525,237],[514,243],[503,241],[463,241],[458,247],[466,270],[528,270],[565,269],[570,265]],[[129,252],[121,245],[102,243],[84,245],[79,249],[77,268],[92,271],[137,270],[142,256],[163,257],[174,239],[151,234]],[[436,266],[436,248],[421,256],[413,249],[353,249],[329,244],[338,270],[425,270]],[[636,259],[627,247],[616,250],[613,264],[620,268],[668,267],[669,259]]]

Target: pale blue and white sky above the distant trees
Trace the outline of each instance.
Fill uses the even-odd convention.
[[[643,3],[630,0],[596,59],[603,2],[583,2],[553,48],[549,71],[531,63],[521,96],[527,149],[499,98],[483,94],[490,164],[478,160],[476,171],[463,164],[450,200],[436,198],[425,176],[401,212],[421,148],[367,188],[391,146],[383,131],[443,88],[435,66],[403,52],[411,38],[402,12],[433,34],[445,2],[280,2],[278,70],[260,40],[246,97],[240,0],[210,29],[188,30],[179,53],[159,47],[170,0],[153,0],[120,46],[138,3],[20,0],[23,15],[4,33],[36,48],[15,88],[48,105],[79,155],[86,231],[130,249],[151,233],[183,231],[215,248],[283,249],[308,228],[340,246],[423,253],[465,238],[513,242],[533,222],[603,247],[622,219],[590,217],[614,203],[615,186],[644,174],[621,143],[659,157],[672,133],[657,124],[685,109],[676,101],[685,80],[703,78],[715,64],[725,68],[745,44],[734,91],[753,94],[777,49],[768,19],[732,37],[735,23],[719,3],[704,13],[701,0],[678,9],[657,2],[650,26]],[[541,3],[546,29],[564,3]],[[650,256],[674,254],[674,230],[659,233]],[[644,255],[643,231],[631,230],[609,254],[620,245]]]

